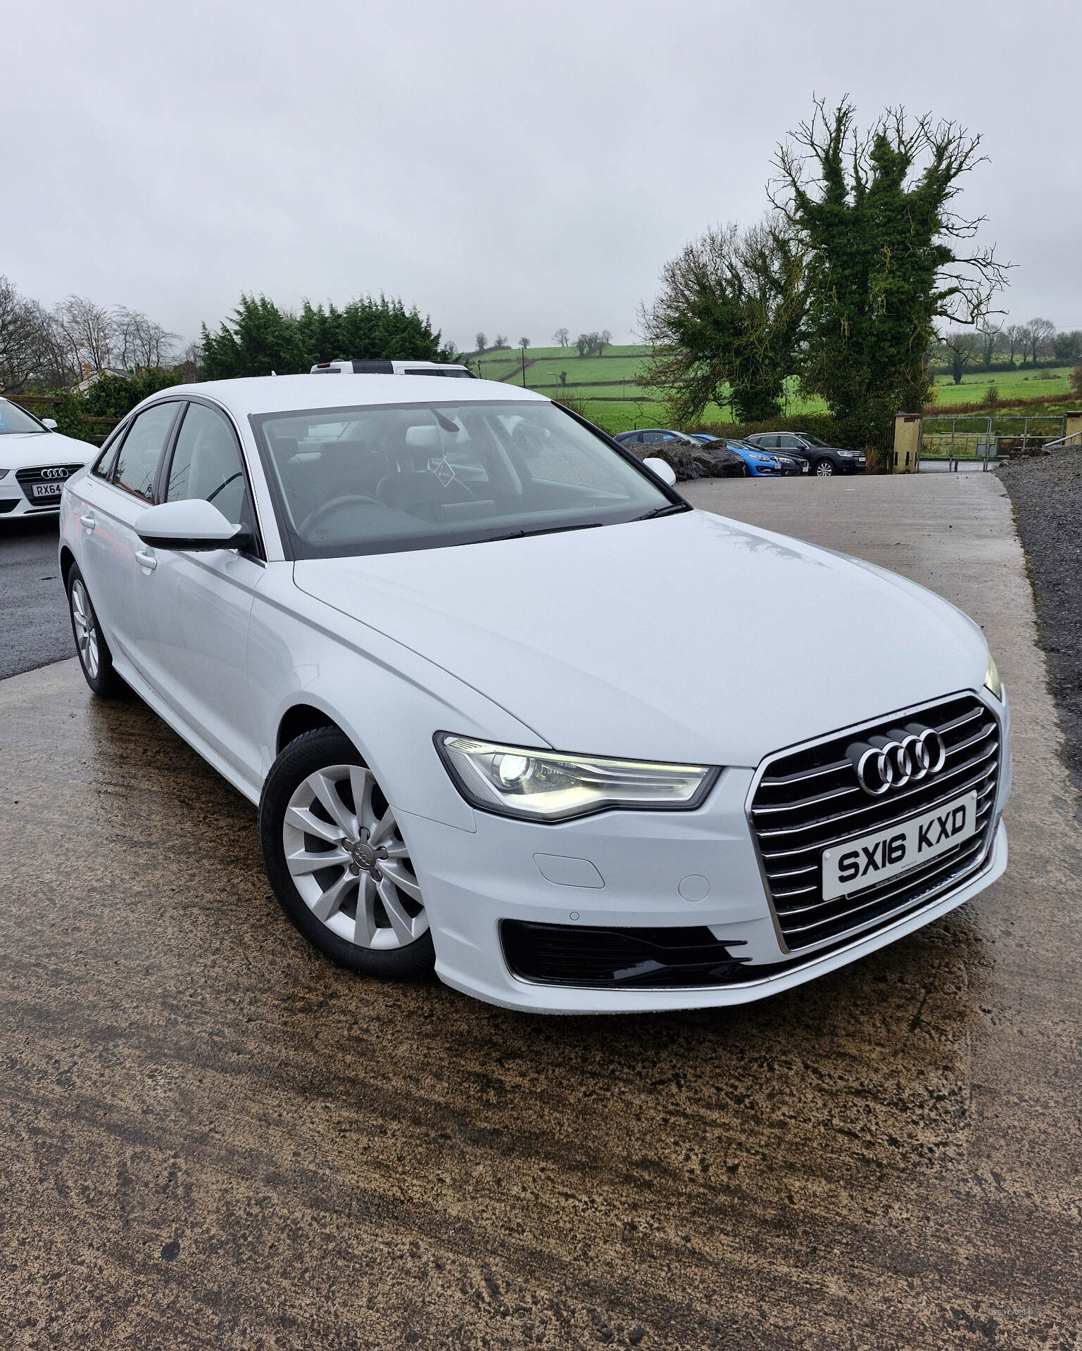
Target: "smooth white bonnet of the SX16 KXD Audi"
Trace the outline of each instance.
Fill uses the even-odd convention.
[[[931,592],[705,512],[304,561],[294,581],[566,751],[752,766],[979,689],[987,663]]]

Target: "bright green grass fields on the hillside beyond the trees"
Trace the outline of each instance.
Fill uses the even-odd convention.
[[[543,394],[566,394],[581,400],[584,416],[608,431],[629,431],[632,427],[666,424],[665,404],[658,396],[639,385],[639,373],[648,347],[608,347],[601,357],[579,357],[574,347],[528,347],[525,353],[525,384]],[[523,378],[523,358],[519,349],[489,353],[470,361],[470,366],[485,380],[503,380],[519,385]],[[567,382],[559,374],[566,372]],[[955,385],[950,374],[939,374],[935,381],[935,401],[944,411],[952,404],[975,403],[985,397],[989,385],[996,385],[1000,404],[1016,399],[1047,399],[1070,393],[1070,366],[1048,369],[1016,369],[1013,372],[967,372],[962,384]],[[785,413],[825,412],[821,399],[802,399],[796,378],[786,382]],[[733,422],[728,408],[711,404],[702,415],[702,424]]]

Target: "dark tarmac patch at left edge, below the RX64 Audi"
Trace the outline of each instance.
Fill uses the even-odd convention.
[[[57,517],[0,521],[0,680],[73,651]]]

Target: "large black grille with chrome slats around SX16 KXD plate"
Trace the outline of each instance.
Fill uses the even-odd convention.
[[[943,769],[927,781],[869,797],[856,782],[847,747],[887,735],[900,721],[935,728],[947,747]],[[843,935],[879,928],[929,904],[981,866],[991,844],[1000,780],[1000,724],[974,694],[893,713],[815,746],[766,762],[751,802],[770,900],[785,944],[798,951]],[[919,867],[848,896],[823,898],[823,851],[886,830],[962,793],[977,793],[977,834]]]

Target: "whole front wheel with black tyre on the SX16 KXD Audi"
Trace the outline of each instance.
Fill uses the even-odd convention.
[[[278,904],[332,962],[396,979],[432,970],[428,915],[394,812],[336,728],[305,732],[274,761],[259,850]]]

